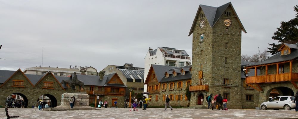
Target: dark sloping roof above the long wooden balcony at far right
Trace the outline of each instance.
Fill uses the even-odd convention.
[[[298,43],[296,43],[295,45],[297,46]],[[294,44],[292,44],[291,46],[293,46]],[[262,65],[262,64],[269,64],[269,63],[274,63],[274,62],[282,62],[282,61],[287,61],[287,60],[293,60],[295,58],[298,57],[298,50],[295,48],[291,49],[291,54],[287,54],[287,55],[281,55],[281,52],[274,54],[273,56],[267,58],[266,60],[262,61],[262,62],[257,62],[251,65],[247,65],[245,67],[249,67],[249,66],[255,66],[255,65]]]

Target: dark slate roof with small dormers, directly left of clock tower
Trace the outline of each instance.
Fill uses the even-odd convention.
[[[173,69],[170,69],[169,71],[179,71],[182,69],[182,68],[187,68],[189,69],[192,65],[188,65],[188,66],[184,66],[184,67],[178,67],[178,68],[173,68]],[[177,81],[177,80],[184,80],[184,79],[191,79],[191,73],[190,71],[189,72],[185,72],[185,75],[178,75],[173,77],[173,75],[169,76],[169,77],[165,77],[165,75],[163,76],[162,80],[160,82],[171,82],[171,81]]]

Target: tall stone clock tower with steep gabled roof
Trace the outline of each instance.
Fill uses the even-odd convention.
[[[231,2],[199,6],[189,32],[193,34],[191,107],[202,97],[221,94],[230,108],[241,108],[242,31],[246,33]]]

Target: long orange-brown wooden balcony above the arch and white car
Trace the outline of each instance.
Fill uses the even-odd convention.
[[[256,83],[271,83],[271,82],[285,82],[285,81],[298,81],[298,73],[280,73],[270,74],[263,76],[248,76],[245,82],[247,84]]]

